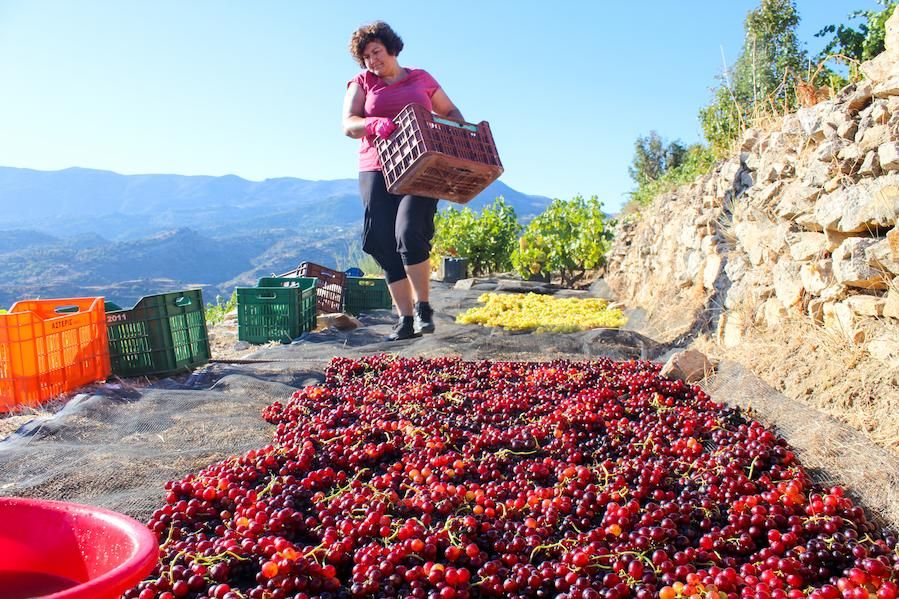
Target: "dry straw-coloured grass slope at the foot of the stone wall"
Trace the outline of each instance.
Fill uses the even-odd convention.
[[[870,326],[899,331],[899,325],[885,320]],[[724,348],[708,337],[694,345],[710,357],[744,364],[787,397],[899,454],[899,371],[872,358],[864,344],[797,315],[770,330],[752,327],[737,347]]]

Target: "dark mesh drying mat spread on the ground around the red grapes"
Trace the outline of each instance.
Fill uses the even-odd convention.
[[[267,346],[247,360],[210,364],[183,383],[166,379],[144,389],[100,387],[0,442],[0,495],[88,503],[146,520],[162,505],[166,481],[266,445],[273,429],[261,410],[299,387],[322,381],[335,356],[392,352],[470,360],[652,360],[670,349],[628,330],[516,334],[455,324],[457,313],[494,289],[580,295],[504,281],[481,282],[468,290],[437,283],[433,335],[384,343],[394,317],[388,310],[375,310],[361,315],[362,328],[304,334],[291,345]],[[790,402],[738,367],[723,365],[707,389],[719,401],[751,405],[757,418],[776,424],[818,480],[850,486],[873,513],[887,523],[899,522],[893,456],[851,429]]]

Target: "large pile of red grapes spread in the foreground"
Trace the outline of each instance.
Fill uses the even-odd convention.
[[[167,485],[159,597],[893,599],[897,539],[648,362],[338,358]]]

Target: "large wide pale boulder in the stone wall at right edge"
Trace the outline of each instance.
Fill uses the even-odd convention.
[[[899,176],[863,179],[822,195],[815,204],[815,220],[824,229],[860,233],[892,227],[899,215]]]

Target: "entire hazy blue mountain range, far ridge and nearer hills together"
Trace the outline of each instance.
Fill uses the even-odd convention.
[[[467,206],[480,210],[499,196],[523,222],[550,202],[497,181]],[[302,261],[345,268],[362,258],[355,179],[0,167],[0,207],[4,308],[84,295],[130,305],[187,286],[211,301]]]

